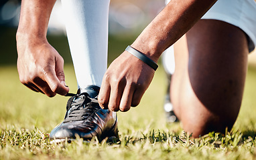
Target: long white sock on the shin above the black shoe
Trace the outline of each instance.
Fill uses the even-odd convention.
[[[78,88],[101,86],[107,70],[110,0],[62,0]]]

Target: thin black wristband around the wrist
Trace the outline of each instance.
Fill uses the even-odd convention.
[[[151,67],[153,70],[157,69],[158,65],[154,61],[149,59],[149,57],[145,56],[140,51],[137,51],[137,49],[134,49],[133,47],[128,45],[128,47],[125,49],[125,51],[131,53],[132,55],[134,55],[135,57],[137,57],[138,59],[140,59],[141,61],[143,61],[147,65],[149,65],[149,67]]]

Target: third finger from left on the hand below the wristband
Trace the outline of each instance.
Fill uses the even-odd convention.
[[[120,102],[120,111],[129,111],[131,108],[131,101],[133,99],[135,87],[133,85],[126,85]]]

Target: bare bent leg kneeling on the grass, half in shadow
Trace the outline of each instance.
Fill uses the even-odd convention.
[[[216,20],[200,20],[175,45],[171,99],[193,137],[231,129],[241,106],[247,55],[245,33]]]

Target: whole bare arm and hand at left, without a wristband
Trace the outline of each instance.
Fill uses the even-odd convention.
[[[17,69],[21,83],[48,97],[66,95],[69,91],[65,86],[64,60],[46,39],[55,2],[23,0],[16,35]]]

